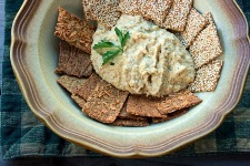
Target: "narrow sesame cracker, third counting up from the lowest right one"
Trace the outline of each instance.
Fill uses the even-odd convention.
[[[186,29],[180,33],[184,40],[186,48],[189,48],[207,23],[207,19],[192,8],[188,15]]]

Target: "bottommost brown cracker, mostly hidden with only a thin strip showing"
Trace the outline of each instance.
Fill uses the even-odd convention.
[[[149,123],[147,120],[126,120],[126,118],[117,118],[113,123],[113,126],[127,126],[127,127],[143,127],[148,126]]]

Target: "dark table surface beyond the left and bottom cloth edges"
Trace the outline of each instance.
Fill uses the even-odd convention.
[[[0,0],[0,77],[2,71],[3,54],[3,33],[4,33],[4,0]],[[0,79],[1,83],[1,79]],[[120,166],[120,165],[220,165],[220,166],[250,166],[249,154],[214,155],[200,157],[160,157],[147,159],[120,159],[112,157],[90,158],[90,157],[71,157],[71,158],[20,158],[12,160],[2,160],[0,154],[0,166]]]

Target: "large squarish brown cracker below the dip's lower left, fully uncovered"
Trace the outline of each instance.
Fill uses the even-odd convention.
[[[101,80],[88,97],[82,112],[99,122],[113,123],[128,94]]]

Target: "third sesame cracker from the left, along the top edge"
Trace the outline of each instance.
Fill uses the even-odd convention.
[[[147,0],[141,7],[142,17],[161,25],[169,12],[171,3],[172,0]]]

